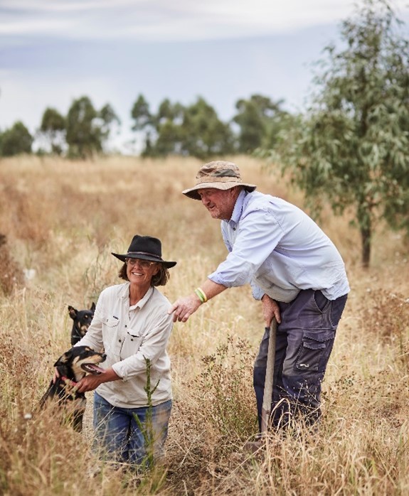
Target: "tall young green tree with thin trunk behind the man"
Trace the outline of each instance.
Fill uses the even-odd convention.
[[[325,48],[317,95],[279,152],[315,212],[354,209],[368,266],[376,220],[409,232],[409,45],[388,0],[363,0]],[[277,158],[277,156],[276,156]]]

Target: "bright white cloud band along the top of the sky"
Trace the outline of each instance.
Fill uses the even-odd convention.
[[[4,0],[0,35],[193,41],[272,35],[334,23],[345,0]]]

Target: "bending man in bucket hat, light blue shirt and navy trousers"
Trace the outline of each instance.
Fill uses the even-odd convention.
[[[225,289],[249,283],[262,301],[267,328],[255,360],[253,384],[259,427],[269,327],[277,319],[271,423],[285,427],[302,416],[321,416],[321,384],[349,283],[344,262],[329,237],[302,210],[243,183],[238,166],[206,163],[184,195],[201,200],[220,219],[228,257],[191,295],[170,308],[186,322],[199,306]]]

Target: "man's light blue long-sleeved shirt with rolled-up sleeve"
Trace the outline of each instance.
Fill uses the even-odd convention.
[[[228,257],[208,279],[228,288],[249,283],[253,296],[290,302],[300,290],[329,300],[349,293],[344,262],[331,239],[301,209],[257,191],[240,192],[222,220]]]

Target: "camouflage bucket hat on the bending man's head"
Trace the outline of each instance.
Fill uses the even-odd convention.
[[[196,185],[193,188],[182,191],[188,198],[200,200],[198,190],[203,188],[216,188],[218,190],[230,190],[235,186],[243,186],[247,191],[257,188],[254,184],[243,183],[238,166],[233,162],[217,160],[205,163],[196,175]]]

